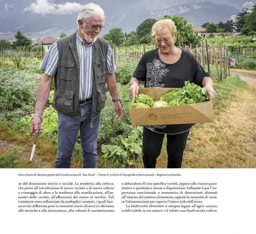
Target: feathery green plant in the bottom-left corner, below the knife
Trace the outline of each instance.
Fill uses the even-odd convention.
[[[19,168],[20,157],[18,153],[20,152],[20,149],[17,146],[15,146],[11,150],[12,153],[7,155],[6,157],[0,155],[0,168]]]

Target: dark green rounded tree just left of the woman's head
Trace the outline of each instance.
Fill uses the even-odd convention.
[[[137,28],[136,34],[140,43],[150,43],[151,42],[151,29],[156,19],[145,19]]]

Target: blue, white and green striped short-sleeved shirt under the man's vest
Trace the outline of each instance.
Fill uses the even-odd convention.
[[[79,100],[92,97],[93,74],[92,74],[92,45],[85,45],[82,38],[76,33],[76,47],[80,63],[79,74]],[[59,52],[57,43],[54,42],[47,51],[39,69],[47,75],[54,75],[58,69]],[[108,44],[107,73],[114,73],[116,65],[110,45]]]

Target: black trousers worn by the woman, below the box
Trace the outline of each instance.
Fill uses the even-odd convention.
[[[185,149],[189,130],[179,134],[167,136],[167,168],[181,168],[183,151]],[[164,134],[143,128],[143,164],[144,168],[156,168],[156,158],[161,153]]]

